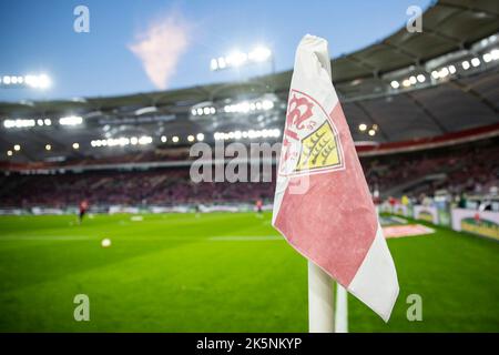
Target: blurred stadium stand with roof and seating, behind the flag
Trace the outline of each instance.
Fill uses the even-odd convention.
[[[497,17],[495,1],[437,1],[424,13],[424,36],[401,28],[332,60],[333,81],[373,191],[383,197],[497,191]],[[291,77],[289,70],[112,98],[0,102],[0,205],[63,207],[83,197],[104,206],[271,201],[272,183],[193,183],[189,152],[197,141],[213,146],[221,132],[232,133],[222,134],[228,143],[236,132],[282,130]],[[272,104],[227,109],[241,100],[247,106],[258,100]],[[197,113],[206,109],[210,114]],[[69,114],[79,115],[81,124],[59,124]],[[12,126],[22,118],[32,120],[30,128]],[[149,141],[138,144],[141,136]],[[121,139],[126,144],[110,143]]]

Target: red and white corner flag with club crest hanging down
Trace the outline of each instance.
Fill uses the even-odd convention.
[[[313,36],[296,51],[272,224],[389,320],[397,273],[330,80],[327,42]]]

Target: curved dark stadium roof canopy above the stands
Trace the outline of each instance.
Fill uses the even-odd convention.
[[[430,73],[438,70],[439,65],[452,60],[459,60],[460,63],[464,59],[497,48],[499,41],[495,34],[498,32],[499,6],[496,0],[445,0],[434,3],[425,11],[421,33],[409,33],[404,27],[377,43],[332,60],[333,81],[347,120],[354,128],[354,139],[399,141],[498,122],[497,64],[472,68],[466,73],[449,78],[450,80],[430,81]],[[490,43],[477,44],[491,36],[495,38]],[[401,82],[405,77],[418,73],[427,75],[428,81],[425,84],[408,88],[410,90],[394,91],[390,88],[394,80]],[[55,140],[55,145],[61,148],[74,141],[90,142],[91,139],[103,135],[103,122],[110,122],[110,119],[114,120],[114,124],[120,124],[122,119],[144,115],[163,118],[157,122],[142,121],[140,128],[132,131],[152,135],[186,135],[197,132],[213,133],[215,129],[237,129],[243,122],[234,118],[224,119],[222,126],[220,121],[193,120],[191,109],[202,102],[223,104],[230,100],[257,98],[268,93],[275,94],[281,102],[286,102],[291,77],[289,70],[244,82],[162,92],[59,101],[4,102],[0,103],[2,119],[78,114],[83,115],[86,122],[94,123],[79,129],[78,132],[65,132],[58,136],[30,130],[11,130],[9,134],[3,131],[0,135],[0,148],[4,152],[16,141],[29,145],[29,142],[41,144],[49,139]],[[153,108],[153,113],[142,114],[140,110],[143,108]],[[275,109],[279,120],[284,120],[285,105],[277,105]],[[265,122],[268,125],[275,121]],[[358,132],[356,128],[359,123],[377,125],[378,134],[371,138]],[[281,125],[282,121],[277,126]],[[34,149],[31,158],[37,159],[38,155]]]

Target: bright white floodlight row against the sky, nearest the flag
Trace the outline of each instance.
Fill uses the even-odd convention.
[[[240,68],[246,64],[266,62],[271,59],[273,59],[271,49],[257,45],[249,52],[234,51],[225,57],[213,58],[210,61],[210,69],[212,71],[218,71],[228,68]]]

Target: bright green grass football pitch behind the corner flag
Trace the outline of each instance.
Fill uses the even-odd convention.
[[[499,332],[499,243],[436,231],[389,240],[391,320],[349,296],[350,332]],[[269,214],[0,217],[2,332],[306,332],[306,274]],[[73,318],[77,294],[90,322]]]

